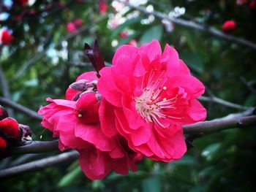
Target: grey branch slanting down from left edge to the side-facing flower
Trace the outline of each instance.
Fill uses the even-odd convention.
[[[30,110],[29,108],[23,107],[20,104],[17,104],[10,99],[4,98],[0,96],[0,103],[5,104],[8,107],[12,107],[15,110],[18,110],[19,112],[23,112],[26,115],[29,115],[29,117],[34,118],[36,120],[42,120],[42,116],[37,114],[37,112],[34,112],[33,110]]]

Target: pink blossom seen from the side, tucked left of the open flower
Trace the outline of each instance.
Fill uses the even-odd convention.
[[[136,171],[136,153],[127,141],[116,135],[106,137],[99,123],[99,95],[94,87],[95,72],[81,74],[67,89],[66,99],[50,99],[39,109],[42,126],[59,137],[59,149],[80,153],[80,166],[91,180],[102,179],[111,170],[127,174]],[[82,85],[83,84],[83,85]]]

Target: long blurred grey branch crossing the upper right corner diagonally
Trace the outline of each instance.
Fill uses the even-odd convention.
[[[156,12],[156,11],[148,12],[143,7],[134,6],[132,4],[129,4],[126,1],[121,1],[121,0],[117,0],[117,1],[121,2],[122,4],[127,5],[128,7],[132,7],[133,9],[137,9],[140,12],[143,12],[143,13],[145,13],[147,15],[154,15],[157,18],[169,20],[170,22],[176,23],[177,25],[185,26],[185,27],[188,27],[188,28],[193,28],[193,29],[196,29],[198,31],[203,31],[203,32],[206,32],[208,34],[212,34],[212,35],[214,35],[216,37],[220,37],[222,39],[226,39],[227,41],[235,42],[235,43],[237,43],[239,45],[244,45],[246,47],[250,47],[252,49],[256,49],[256,44],[255,43],[249,42],[246,39],[242,39],[242,38],[238,38],[238,37],[234,37],[234,36],[231,36],[231,35],[224,34],[224,33],[222,33],[222,31],[219,31],[219,30],[217,30],[217,29],[215,29],[213,27],[200,26],[199,24],[197,24],[195,22],[192,22],[192,21],[188,21],[188,20],[183,20],[183,19],[178,19],[178,18],[170,18],[169,16],[167,16],[165,14],[162,14],[161,12]]]

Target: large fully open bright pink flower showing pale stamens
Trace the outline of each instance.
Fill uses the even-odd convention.
[[[162,53],[157,40],[140,48],[123,45],[113,66],[99,74],[99,120],[107,137],[121,134],[132,150],[157,161],[184,155],[181,126],[205,120],[197,101],[205,88],[173,47],[166,45]]]

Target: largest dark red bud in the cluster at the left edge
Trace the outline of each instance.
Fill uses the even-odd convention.
[[[0,133],[7,138],[20,139],[19,124],[13,118],[0,120]]]

